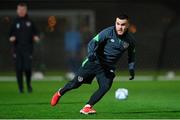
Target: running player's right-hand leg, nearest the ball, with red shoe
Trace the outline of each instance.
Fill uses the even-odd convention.
[[[80,113],[83,114],[96,113],[96,111],[92,109],[92,107],[109,91],[109,89],[112,86],[114,76],[115,76],[114,73],[110,73],[110,72],[108,73],[102,72],[100,74],[97,74],[96,77],[99,84],[99,89],[96,92],[94,92],[94,94],[91,96],[90,100],[80,111]]]

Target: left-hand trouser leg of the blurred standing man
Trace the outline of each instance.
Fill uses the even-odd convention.
[[[23,58],[20,54],[14,54],[15,66],[16,66],[16,79],[18,83],[19,92],[24,92],[23,87]]]

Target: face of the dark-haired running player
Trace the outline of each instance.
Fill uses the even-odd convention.
[[[116,18],[115,27],[117,34],[123,35],[129,27],[129,21],[127,19]]]

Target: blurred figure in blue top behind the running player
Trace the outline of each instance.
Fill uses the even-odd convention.
[[[69,23],[64,35],[64,44],[68,64],[66,78],[71,80],[80,66],[81,33],[75,25]]]

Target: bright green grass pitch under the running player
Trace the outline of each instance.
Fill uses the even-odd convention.
[[[50,106],[52,95],[65,83],[33,81],[33,93],[19,94],[16,82],[0,82],[0,118],[180,118],[180,81],[114,81],[111,90],[94,106],[95,115],[82,115],[79,110],[98,88],[96,82],[68,92],[57,106]],[[114,92],[120,87],[129,90],[127,100],[115,99]]]

